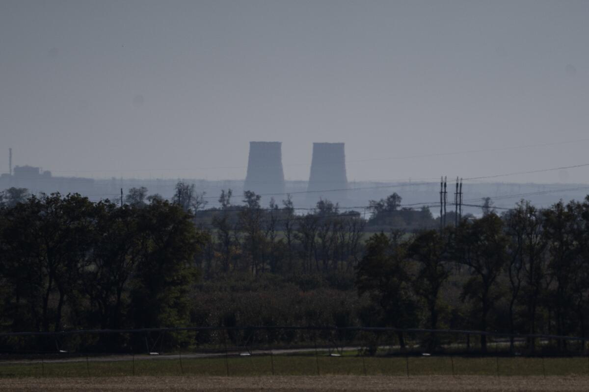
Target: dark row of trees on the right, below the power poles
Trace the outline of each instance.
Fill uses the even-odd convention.
[[[501,216],[488,210],[442,232],[375,234],[356,284],[395,327],[438,329],[444,314],[461,329],[584,337],[588,273],[589,196],[546,209],[522,200]],[[468,306],[449,303],[452,287]],[[486,350],[486,336],[480,343]]]

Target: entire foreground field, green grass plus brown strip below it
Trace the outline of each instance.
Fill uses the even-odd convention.
[[[178,354],[4,361],[0,390],[587,391],[588,374],[587,357]]]

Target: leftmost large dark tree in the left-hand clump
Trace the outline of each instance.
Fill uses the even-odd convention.
[[[92,244],[93,207],[86,197],[54,193],[31,196],[6,212],[4,251],[11,258],[9,270],[18,273],[17,298],[28,297],[34,330],[60,330],[68,297],[75,306]]]

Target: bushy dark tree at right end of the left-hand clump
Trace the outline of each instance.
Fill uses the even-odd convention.
[[[155,202],[137,213],[141,252],[130,282],[134,327],[185,326],[189,290],[198,278],[194,256],[207,239],[180,205]]]

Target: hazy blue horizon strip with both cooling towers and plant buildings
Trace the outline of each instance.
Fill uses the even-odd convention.
[[[59,192],[62,195],[68,193],[80,193],[88,196],[92,201],[115,200],[120,197],[121,188],[128,192],[131,187],[145,186],[148,193],[158,193],[171,199],[174,196],[178,179],[141,179],[141,178],[84,178],[54,176],[49,170],[43,170],[38,166],[14,165],[14,150],[7,151],[8,166],[4,166],[5,173],[0,173],[0,192],[10,187],[26,188],[29,195],[38,193]],[[2,155],[0,154],[0,158]],[[409,182],[353,182],[348,185],[344,143],[315,143],[313,145],[312,167],[309,181],[284,180],[282,158],[282,144],[279,142],[252,142],[250,143],[249,167],[247,180],[243,179],[183,179],[184,182],[194,183],[197,192],[206,192],[207,196],[216,197],[221,190],[231,189],[235,195],[234,203],[240,203],[244,190],[253,190],[257,194],[267,195],[262,197],[262,206],[267,207],[270,197],[281,205],[286,195],[290,193],[294,206],[316,206],[320,198],[329,199],[340,206],[362,206],[368,200],[385,198],[391,193],[402,195],[403,202],[414,205],[428,205],[432,195],[439,195],[439,183],[411,183]],[[18,158],[16,159],[18,163]],[[287,175],[289,173],[286,173]],[[244,186],[245,184],[245,186]],[[586,185],[586,184],[583,184]],[[389,187],[390,186],[390,187]],[[394,186],[394,188],[393,188]],[[342,191],[346,189],[348,191]],[[351,191],[350,189],[353,189]],[[563,190],[560,183],[544,184],[518,184],[518,183],[473,183],[465,186],[464,192],[473,199],[482,197],[504,197],[520,193],[530,193],[531,202],[537,206],[550,206],[558,199],[582,200],[587,195],[585,187]],[[306,192],[310,190],[312,192]],[[268,195],[268,194],[273,194]],[[557,196],[555,196],[557,195]],[[439,197],[439,196],[438,196]],[[469,196],[470,197],[470,196]],[[213,202],[211,207],[217,205]],[[479,207],[468,207],[468,213],[480,213]]]

